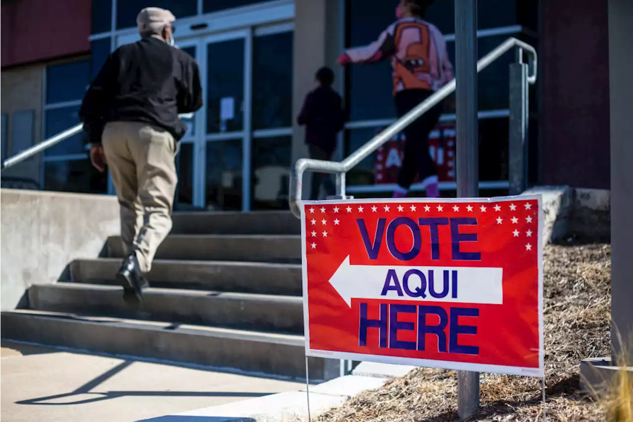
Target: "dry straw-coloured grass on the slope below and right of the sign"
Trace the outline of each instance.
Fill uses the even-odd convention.
[[[549,421],[599,421],[602,406],[580,393],[579,364],[610,354],[610,245],[544,250],[544,332]],[[482,374],[481,407],[471,420],[537,421],[541,379]],[[417,368],[323,414],[321,422],[456,421],[456,374]]]

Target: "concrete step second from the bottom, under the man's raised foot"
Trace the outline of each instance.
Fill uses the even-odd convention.
[[[294,296],[149,288],[137,309],[117,286],[56,283],[28,289],[30,309],[174,324],[303,333],[303,299]]]

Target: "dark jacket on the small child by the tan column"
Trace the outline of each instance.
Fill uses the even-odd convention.
[[[341,96],[331,87],[316,88],[306,96],[298,123],[306,126],[306,144],[332,153],[336,148],[336,134],[345,124]]]

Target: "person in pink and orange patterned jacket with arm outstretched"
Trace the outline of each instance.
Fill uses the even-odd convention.
[[[429,98],[453,79],[453,65],[446,41],[424,15],[434,0],[401,0],[392,23],[368,46],[348,49],[339,56],[339,65],[370,64],[391,60],[394,101],[398,117]],[[442,114],[439,104],[404,129],[404,160],[394,198],[406,196],[416,174],[430,198],[439,197],[437,169],[429,153],[429,134]]]

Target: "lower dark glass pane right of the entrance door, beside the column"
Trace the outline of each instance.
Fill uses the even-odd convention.
[[[253,209],[288,208],[290,136],[253,141]]]

